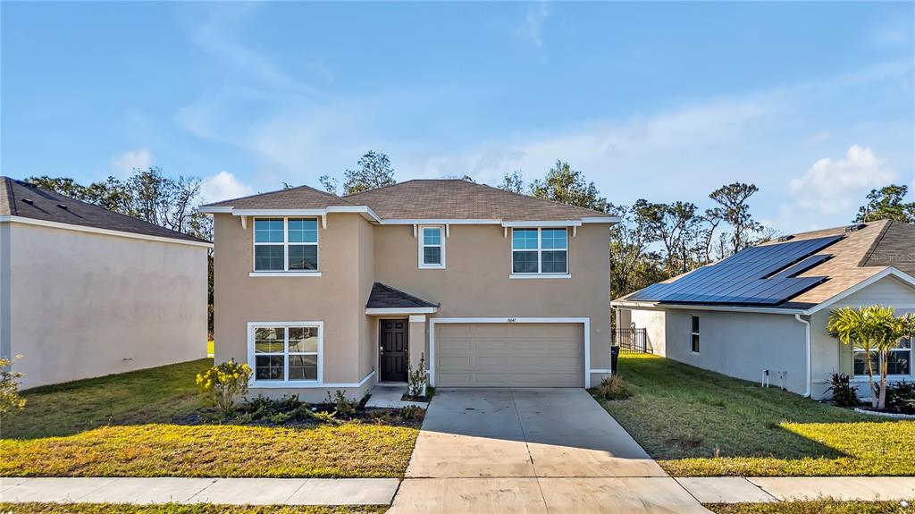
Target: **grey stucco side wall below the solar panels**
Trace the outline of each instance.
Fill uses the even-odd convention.
[[[699,316],[698,354],[691,351],[691,316]],[[757,382],[769,369],[772,386],[806,390],[806,329],[794,316],[667,309],[665,317],[668,359]]]

